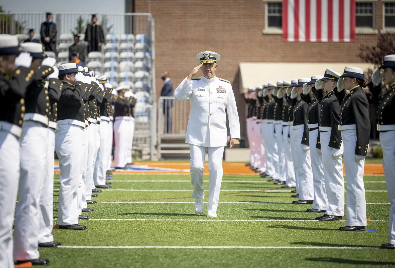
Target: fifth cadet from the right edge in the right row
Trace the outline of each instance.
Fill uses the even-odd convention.
[[[294,153],[296,154],[296,161],[293,162],[293,165],[299,179],[296,182],[296,187],[299,187],[299,201],[295,201],[295,204],[312,204],[314,200],[313,173],[311,170],[307,126],[308,105],[303,101],[303,99],[300,99],[300,96],[303,93],[302,87],[309,81],[309,78],[299,79],[296,87],[294,87],[291,92],[291,101],[296,101],[295,107],[293,108],[292,126],[295,143],[291,144],[291,146],[293,145]]]

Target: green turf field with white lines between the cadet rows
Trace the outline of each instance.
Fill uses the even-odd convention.
[[[111,182],[110,190],[93,198],[102,203],[88,206],[94,208],[85,213],[90,220],[79,221],[87,230],[53,230],[62,247],[40,248],[51,267],[395,265],[395,251],[377,248],[388,242],[383,176],[365,177],[366,229],[377,232],[340,232],[345,221],[314,221],[321,214],[305,212],[312,205],[290,204],[295,199],[289,190],[258,176],[224,176],[217,218],[207,218],[207,210],[194,214],[189,175],[114,175]]]

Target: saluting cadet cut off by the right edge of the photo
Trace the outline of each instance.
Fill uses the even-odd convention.
[[[395,249],[395,54],[384,57],[383,65],[372,75],[372,82],[376,89],[381,81],[389,85],[383,87],[383,94],[378,107],[377,131],[380,131],[380,144],[383,151],[383,169],[386,176],[389,206],[389,243],[382,244],[382,248]],[[378,95],[378,94],[376,94]],[[362,146],[361,146],[362,147]]]

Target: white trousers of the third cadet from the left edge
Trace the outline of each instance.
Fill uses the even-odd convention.
[[[55,129],[47,127],[48,147],[47,162],[44,174],[43,189],[40,198],[40,229],[38,232],[38,243],[53,241],[53,173],[55,165]]]

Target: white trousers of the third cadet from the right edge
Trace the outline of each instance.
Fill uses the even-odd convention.
[[[344,216],[344,178],[342,157],[332,157],[332,147],[328,144],[331,139],[331,131],[320,132],[322,153],[322,167],[324,167],[324,181],[328,208],[326,214],[332,216]],[[342,150],[343,144],[340,147]],[[355,148],[353,150],[355,152]]]

